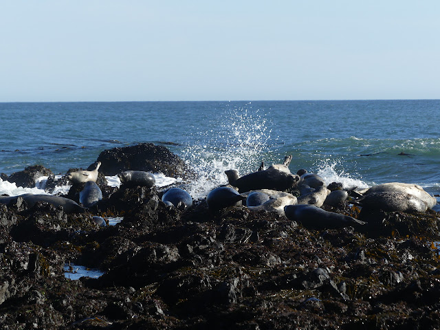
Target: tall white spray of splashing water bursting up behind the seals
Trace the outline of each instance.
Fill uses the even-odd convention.
[[[183,153],[197,173],[197,179],[187,188],[194,199],[206,197],[213,188],[228,184],[225,170],[235,168],[241,175],[252,173],[268,157],[272,130],[258,109],[252,110],[249,103],[245,108],[227,109],[217,118],[223,121],[210,122],[210,131],[198,133],[199,142]]]

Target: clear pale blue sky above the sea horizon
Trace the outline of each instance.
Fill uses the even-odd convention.
[[[440,98],[440,1],[0,0],[0,102]]]

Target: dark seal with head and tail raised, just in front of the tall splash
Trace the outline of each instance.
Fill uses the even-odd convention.
[[[286,190],[292,188],[298,181],[298,175],[290,173],[287,156],[284,164],[275,164],[266,170],[258,170],[254,173],[239,177],[238,170],[225,170],[231,186],[239,188],[239,192],[259,189]]]

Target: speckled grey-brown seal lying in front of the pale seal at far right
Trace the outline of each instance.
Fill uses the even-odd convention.
[[[426,212],[425,201],[406,192],[370,192],[368,195],[353,201],[366,210],[383,210],[386,212]]]

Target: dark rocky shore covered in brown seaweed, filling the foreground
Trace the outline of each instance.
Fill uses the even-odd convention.
[[[143,148],[155,147],[97,161],[129,169],[124,153]],[[146,158],[168,175],[185,171],[168,149]],[[363,214],[347,201],[323,208],[368,225],[308,228],[245,206],[212,211],[205,200],[181,211],[161,201],[164,190],[112,188],[104,174],[103,198],[87,212],[0,204],[1,329],[440,328],[437,212]],[[94,216],[123,220],[102,227]],[[72,281],[69,263],[104,274]]]

